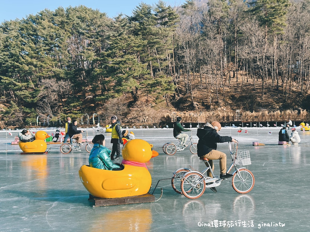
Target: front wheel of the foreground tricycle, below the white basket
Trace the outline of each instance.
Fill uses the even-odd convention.
[[[248,193],[254,187],[254,175],[245,168],[239,169],[239,172],[232,176],[232,188],[238,193]]]

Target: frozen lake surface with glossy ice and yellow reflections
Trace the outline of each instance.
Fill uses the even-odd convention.
[[[60,144],[54,144],[47,146],[51,149],[46,155],[20,155],[19,146],[10,145],[17,132],[10,131],[13,136],[6,138],[6,131],[0,131],[0,231],[310,231],[309,132],[298,131],[297,146],[279,146],[280,127],[248,128],[248,133],[245,129],[238,133],[238,128],[223,128],[219,134],[238,139],[238,149],[250,151],[252,164],[247,168],[255,176],[255,186],[249,193],[235,192],[226,180],[216,187],[217,193],[207,188],[200,198],[190,200],[177,194],[170,180],[163,180],[154,193],[157,200],[163,189],[157,202],[105,207],[91,207],[79,179],[78,169],[88,164],[85,149],[64,155]],[[188,148],[173,156],[163,153],[163,144],[177,142],[172,129],[129,131],[159,152],[146,164],[152,191],[159,179],[171,178],[181,167],[205,168]],[[104,135],[112,149],[111,133]],[[253,141],[266,145],[252,146]],[[230,157],[228,143],[218,144],[218,150]],[[218,175],[219,161],[214,164]]]

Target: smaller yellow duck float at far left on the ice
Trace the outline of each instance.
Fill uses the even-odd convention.
[[[32,142],[18,142],[18,145],[20,149],[24,153],[39,153],[39,152],[45,152],[47,148],[47,144],[44,141],[45,139],[49,138],[50,135],[48,135],[45,131],[37,131],[35,134],[36,140]]]

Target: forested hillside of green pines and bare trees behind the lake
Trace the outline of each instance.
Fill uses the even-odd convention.
[[[306,0],[85,6],[0,24],[0,127],[309,120]],[[94,117],[94,121],[92,121]],[[38,122],[38,123],[37,123]]]

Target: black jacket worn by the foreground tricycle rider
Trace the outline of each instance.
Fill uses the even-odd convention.
[[[199,157],[208,154],[211,150],[216,150],[217,143],[231,142],[232,137],[220,136],[215,129],[211,127],[203,127],[197,129],[197,136],[199,138],[197,144],[197,155]]]

